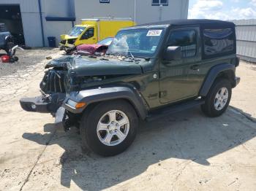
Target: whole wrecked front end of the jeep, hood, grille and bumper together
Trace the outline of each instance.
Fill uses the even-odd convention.
[[[81,116],[79,112],[64,109],[70,101],[75,101],[69,98],[70,95],[78,95],[83,90],[94,90],[115,80],[119,82],[123,77],[141,72],[137,63],[67,55],[50,61],[45,66],[45,76],[39,85],[42,95],[21,98],[20,106],[27,112],[50,113],[56,117],[56,128],[68,130],[71,126],[78,125]]]

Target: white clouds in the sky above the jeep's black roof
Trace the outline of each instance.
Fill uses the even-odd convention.
[[[252,4],[256,7],[256,0],[251,0],[249,4]],[[193,4],[189,9],[189,18],[206,18],[218,20],[250,19],[256,18],[256,9],[253,9],[252,6],[246,8],[230,7],[230,9],[225,9],[222,1],[197,0],[196,3]]]

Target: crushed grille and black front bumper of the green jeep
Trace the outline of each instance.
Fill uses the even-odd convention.
[[[58,112],[58,109],[66,98],[67,73],[74,59],[74,56],[64,56],[50,61],[45,66],[45,75],[39,85],[42,95],[35,98],[21,98],[20,106],[22,109],[26,112],[50,113],[53,117],[56,117],[56,114],[59,113],[59,117],[56,117],[56,120],[61,117],[62,120],[65,119],[65,112]],[[60,113],[62,113],[62,116]],[[60,128],[67,130],[68,127],[61,125]]]

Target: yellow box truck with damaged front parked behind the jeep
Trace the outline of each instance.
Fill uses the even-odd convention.
[[[130,18],[82,19],[81,24],[74,26],[69,34],[61,35],[59,47],[67,50],[80,44],[96,44],[102,39],[115,36],[119,29],[129,26],[135,26]]]

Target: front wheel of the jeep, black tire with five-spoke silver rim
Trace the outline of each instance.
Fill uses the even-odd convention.
[[[110,114],[115,116],[113,124]],[[118,117],[129,124],[124,123],[125,125],[118,127],[118,122],[121,122]],[[112,117],[112,119],[114,118]],[[99,122],[102,122],[100,127],[104,130],[99,130]],[[82,147],[102,156],[118,155],[132,144],[137,128],[138,116],[129,102],[118,100],[99,103],[83,114],[80,123]],[[119,139],[118,133],[120,133],[121,139]],[[106,139],[110,136],[112,138]]]

